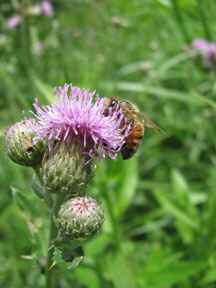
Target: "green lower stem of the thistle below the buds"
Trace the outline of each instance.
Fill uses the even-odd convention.
[[[53,277],[53,267],[52,267],[52,258],[54,253],[54,244],[53,240],[56,237],[56,226],[53,220],[53,210],[50,212],[50,231],[49,231],[49,243],[48,243],[48,251],[47,251],[47,264],[46,264],[46,287],[54,288],[54,277]]]

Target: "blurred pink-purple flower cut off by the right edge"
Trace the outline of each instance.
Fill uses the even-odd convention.
[[[216,43],[195,39],[191,46],[194,52],[201,55],[206,66],[212,66],[216,60]]]

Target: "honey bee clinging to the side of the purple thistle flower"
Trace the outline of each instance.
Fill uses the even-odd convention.
[[[107,116],[110,111],[121,108],[125,119],[121,128],[130,125],[131,130],[125,139],[125,144],[121,149],[122,158],[130,159],[137,151],[143,137],[145,127],[161,131],[161,129],[152,122],[146,115],[140,112],[138,107],[126,100],[118,100],[116,97],[105,98],[104,115]]]

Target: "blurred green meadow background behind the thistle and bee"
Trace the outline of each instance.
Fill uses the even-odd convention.
[[[65,82],[133,101],[147,130],[131,160],[98,164],[103,231],[62,288],[216,287],[214,0],[0,1],[0,287],[44,287],[48,211],[3,133]]]

